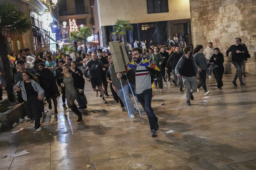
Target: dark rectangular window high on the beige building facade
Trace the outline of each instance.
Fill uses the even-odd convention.
[[[148,14],[169,12],[168,0],[147,0]]]

